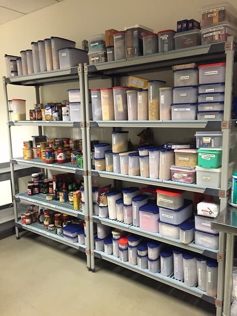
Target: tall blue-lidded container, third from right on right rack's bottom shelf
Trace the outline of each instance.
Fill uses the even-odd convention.
[[[184,284],[187,286],[197,285],[197,263],[193,253],[183,254]]]

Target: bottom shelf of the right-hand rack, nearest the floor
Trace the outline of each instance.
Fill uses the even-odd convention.
[[[94,250],[94,256],[100,259],[107,260],[109,262],[115,263],[118,266],[121,266],[123,268],[129,269],[131,271],[137,272],[143,276],[148,276],[156,281],[162,282],[164,284],[170,285],[172,287],[175,287],[181,291],[184,291],[186,293],[195,295],[202,300],[209,302],[211,304],[215,304],[215,298],[208,296],[206,292],[200,290],[197,285],[193,287],[189,287],[184,284],[183,281],[178,281],[174,278],[173,274],[171,276],[163,276],[161,273],[152,273],[148,269],[141,269],[138,266],[133,266],[129,264],[128,262],[123,262],[119,258],[113,256],[113,255],[107,255],[104,253],[104,251],[97,251]]]

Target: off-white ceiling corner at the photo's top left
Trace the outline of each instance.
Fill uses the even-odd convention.
[[[63,0],[0,0],[0,24]]]

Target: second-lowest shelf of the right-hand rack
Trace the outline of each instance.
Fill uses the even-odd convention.
[[[187,249],[189,251],[197,252],[197,253],[202,254],[202,255],[209,257],[209,258],[213,258],[213,259],[217,258],[218,250],[207,249],[205,247],[197,245],[194,242],[185,244],[185,243],[180,242],[179,239],[169,238],[169,237],[162,236],[159,233],[152,233],[149,231],[145,231],[145,230],[141,229],[140,227],[133,226],[132,224],[125,224],[123,222],[120,222],[118,220],[113,220],[110,218],[101,218],[97,215],[93,215],[92,218],[93,218],[94,223],[101,223],[101,224],[106,225],[106,226],[110,226],[113,228],[124,230],[126,232],[131,233],[131,234],[137,234],[137,235],[140,235],[143,237],[155,239],[155,240],[167,243],[167,244],[175,246],[175,247],[184,248],[184,249]]]

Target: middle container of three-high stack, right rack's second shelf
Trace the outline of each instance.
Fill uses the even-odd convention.
[[[173,103],[197,103],[197,85],[173,88]]]

